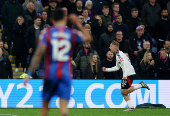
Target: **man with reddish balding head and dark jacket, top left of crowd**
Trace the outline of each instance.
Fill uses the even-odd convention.
[[[27,10],[23,13],[26,28],[34,24],[34,17],[36,16],[35,6],[32,2],[29,2],[27,4]]]

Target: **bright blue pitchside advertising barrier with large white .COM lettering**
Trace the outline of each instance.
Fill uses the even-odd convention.
[[[134,80],[133,85],[141,80]],[[22,79],[0,79],[0,108],[41,108],[43,80],[32,79],[27,86]],[[120,93],[121,80],[73,80],[69,108],[127,108]],[[130,93],[133,106],[143,103],[163,104],[170,108],[170,80],[145,80],[144,88]],[[53,97],[50,108],[58,108]]]

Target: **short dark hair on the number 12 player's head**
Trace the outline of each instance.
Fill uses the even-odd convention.
[[[60,8],[56,8],[52,14],[51,18],[54,19],[55,21],[60,21],[64,18],[64,11]]]

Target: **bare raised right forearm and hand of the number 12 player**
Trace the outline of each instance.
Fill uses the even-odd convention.
[[[83,26],[77,21],[77,15],[70,14],[69,19],[73,25],[75,25],[84,35],[84,41],[92,41],[91,35],[83,28]]]

